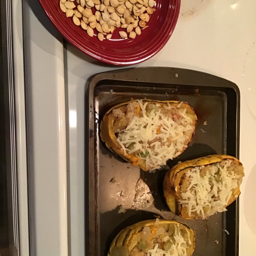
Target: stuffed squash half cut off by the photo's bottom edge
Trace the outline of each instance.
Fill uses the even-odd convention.
[[[169,220],[141,221],[113,239],[108,256],[191,256],[195,236],[185,224]]]

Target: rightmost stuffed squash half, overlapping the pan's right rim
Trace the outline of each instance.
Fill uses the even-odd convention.
[[[243,177],[244,167],[236,157],[201,157],[178,163],[166,173],[164,197],[176,215],[206,219],[236,200]]]

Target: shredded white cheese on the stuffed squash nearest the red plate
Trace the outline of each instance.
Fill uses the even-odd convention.
[[[173,118],[163,115],[163,108],[156,104],[156,108],[150,111],[146,110],[148,102],[143,104],[142,100],[137,100],[140,105],[142,116],[134,116],[129,125],[119,132],[117,142],[122,146],[124,154],[126,151],[132,154],[136,151],[136,155],[145,160],[146,168],[149,170],[159,169],[166,165],[166,161],[173,159],[183,151],[189,136],[185,135],[187,131],[194,131],[192,119],[186,114],[186,109],[177,113],[180,115],[180,125]],[[168,103],[165,110],[173,107]],[[157,130],[158,129],[158,130]],[[160,131],[160,132],[157,132]],[[133,149],[128,149],[131,143],[134,144]],[[145,157],[143,157],[145,156]]]

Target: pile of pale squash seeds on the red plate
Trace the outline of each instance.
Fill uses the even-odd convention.
[[[154,0],[60,0],[60,8],[67,17],[72,17],[76,26],[81,26],[93,37],[93,29],[96,29],[100,41],[104,35],[109,40],[116,28],[126,29],[119,31],[121,38],[135,38],[141,34],[155,9]],[[95,8],[93,14],[91,8]]]

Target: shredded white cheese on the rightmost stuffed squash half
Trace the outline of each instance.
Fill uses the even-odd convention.
[[[186,192],[181,193],[182,200],[178,201],[182,207],[187,207],[189,216],[196,212],[205,219],[227,210],[226,205],[233,189],[239,186],[241,179],[241,175],[230,167],[232,162],[233,160],[226,160],[207,166],[204,175],[201,175],[201,171],[205,166],[192,168],[185,173],[188,187]],[[183,184],[181,189],[182,186]]]

